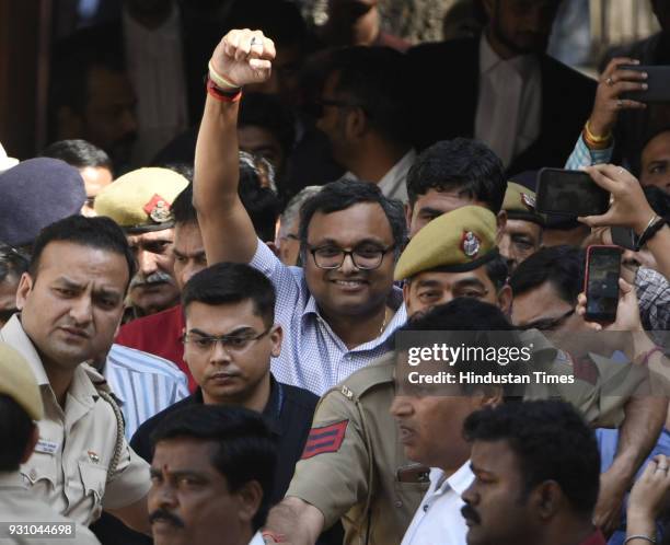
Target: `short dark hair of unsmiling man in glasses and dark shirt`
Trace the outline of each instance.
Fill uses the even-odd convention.
[[[261,243],[262,244],[262,243]],[[266,327],[275,320],[275,287],[268,278],[242,263],[218,263],[192,276],[182,292],[184,312],[199,302],[209,305],[252,301],[254,314]]]

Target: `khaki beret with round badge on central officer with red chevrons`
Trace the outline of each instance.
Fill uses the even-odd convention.
[[[443,213],[423,228],[395,266],[395,280],[425,270],[461,272],[481,267],[498,253],[496,217],[483,207],[466,206]]]

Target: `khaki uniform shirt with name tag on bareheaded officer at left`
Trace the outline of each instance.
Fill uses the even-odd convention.
[[[39,441],[21,466],[34,498],[57,512],[89,525],[105,509],[119,509],[143,498],[151,487],[149,464],[122,438],[122,456],[108,474],[117,440],[117,420],[91,376],[104,382],[89,366],[81,364],[67,393],[65,410],[56,401],[42,360],[23,331],[18,315],[0,331],[0,340],[19,350],[37,379],[44,403],[38,422]]]

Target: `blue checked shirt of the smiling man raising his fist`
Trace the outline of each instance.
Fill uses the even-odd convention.
[[[319,313],[300,267],[284,265],[262,241],[250,265],[265,274],[277,292],[275,322],[281,324],[284,341],[272,370],[285,384],[322,395],[388,352],[386,339],[407,320],[403,292],[394,286],[388,301],[396,311],[393,320],[379,337],[349,350]]]

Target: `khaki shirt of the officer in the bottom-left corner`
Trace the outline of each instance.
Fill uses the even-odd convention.
[[[68,524],[72,521],[58,514],[46,503],[43,503],[25,488],[23,477],[19,472],[0,473],[0,544],[11,545],[45,545],[59,543],[61,545],[100,545],[93,533],[81,524],[71,527],[72,533],[41,537],[37,535],[10,535],[10,524]],[[70,537],[67,537],[70,535]]]

